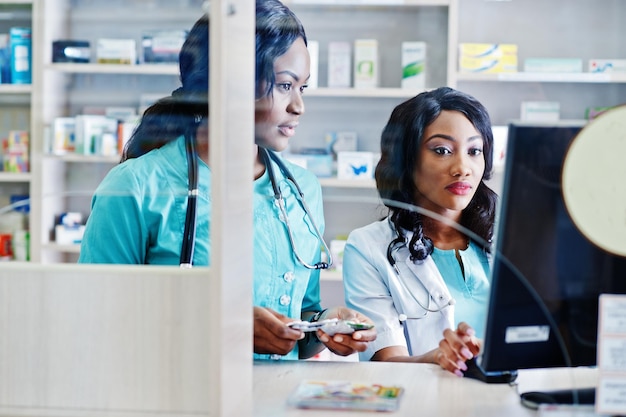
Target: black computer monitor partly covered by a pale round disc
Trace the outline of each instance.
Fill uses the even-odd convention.
[[[509,125],[478,359],[486,371],[595,365],[598,296],[626,293],[626,258],[587,240],[564,203],[563,161],[582,127],[577,121]]]

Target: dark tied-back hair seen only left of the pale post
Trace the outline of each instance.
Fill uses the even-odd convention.
[[[209,17],[191,28],[179,56],[181,87],[148,107],[124,147],[121,162],[191,134],[209,114]]]

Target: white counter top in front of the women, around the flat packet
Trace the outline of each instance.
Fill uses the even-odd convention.
[[[288,406],[289,395],[305,379],[403,386],[405,393],[400,409],[390,414],[396,417],[536,416],[536,411],[521,405],[519,393],[589,387],[597,382],[597,371],[591,368],[521,370],[517,381],[509,385],[459,378],[436,365],[390,362],[255,362],[253,373],[254,416],[258,417],[348,417],[355,414],[342,410],[300,410]]]

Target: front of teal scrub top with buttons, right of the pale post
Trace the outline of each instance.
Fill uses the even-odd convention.
[[[300,186],[311,217],[324,233],[322,190],[315,175],[283,161]],[[285,200],[289,226],[298,255],[307,263],[320,261],[321,243],[296,189],[272,162],[276,184]],[[254,305],[271,308],[294,319],[301,312],[319,311],[319,270],[302,266],[293,254],[287,226],[281,219],[268,170],[254,182]],[[298,359],[297,347],[286,356],[255,355],[255,359]]]

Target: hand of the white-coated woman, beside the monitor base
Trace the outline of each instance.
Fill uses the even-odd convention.
[[[465,362],[478,352],[480,341],[474,337],[474,329],[462,322],[456,330],[444,330],[439,349],[433,351],[434,362],[457,376],[463,376],[463,371],[467,371]]]

